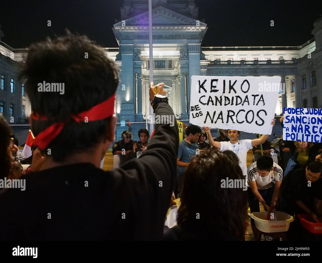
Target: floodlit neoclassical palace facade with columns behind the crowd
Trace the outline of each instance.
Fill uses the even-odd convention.
[[[120,8],[121,18],[112,27],[119,47],[105,48],[107,56],[120,68],[115,103],[118,122],[123,117],[127,122],[149,119],[147,2],[124,0]],[[276,114],[286,106],[322,107],[322,18],[313,25],[314,38],[301,46],[203,47],[202,40],[208,27],[204,21],[198,20],[198,7],[193,0],[152,0],[152,3],[154,82],[165,83],[169,104],[177,119],[189,119],[193,75],[281,76],[286,92],[279,96]],[[13,62],[7,65],[4,59],[23,61],[27,50],[14,49],[1,42],[0,52],[0,74],[11,79],[15,76],[15,70],[11,69],[15,65]],[[17,99],[3,96],[2,92],[0,90],[0,101],[6,104]],[[17,111],[26,105],[21,117],[28,118],[28,98],[19,98],[14,103],[21,104]],[[121,130],[119,128],[117,136]]]

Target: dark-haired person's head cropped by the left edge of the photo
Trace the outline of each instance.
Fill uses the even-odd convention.
[[[11,163],[14,161],[12,154],[16,149],[12,147],[10,128],[2,115],[0,115],[0,134],[0,179],[4,179],[10,175]]]

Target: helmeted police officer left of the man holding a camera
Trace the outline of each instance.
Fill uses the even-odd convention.
[[[123,164],[130,159],[132,148],[136,141],[132,140],[133,134],[130,131],[123,131],[121,137],[122,140],[117,141],[113,146],[112,154],[119,154],[120,164]]]

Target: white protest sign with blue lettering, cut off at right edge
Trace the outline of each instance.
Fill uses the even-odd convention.
[[[283,138],[322,143],[322,109],[283,108]]]

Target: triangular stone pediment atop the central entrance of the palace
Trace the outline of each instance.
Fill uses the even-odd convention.
[[[205,23],[191,17],[177,13],[163,6],[158,6],[152,10],[153,26],[206,26]],[[148,26],[149,14],[144,12],[126,20],[114,24],[114,28],[128,26]]]

